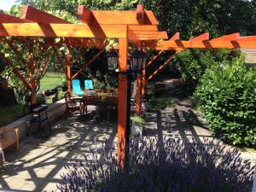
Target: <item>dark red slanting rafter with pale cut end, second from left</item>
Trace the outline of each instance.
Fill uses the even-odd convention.
[[[35,9],[31,6],[24,5],[20,19],[25,20],[32,20],[38,23],[42,24],[49,24],[49,23],[61,23],[61,24],[68,24],[71,23],[67,20],[62,20],[59,17],[56,17],[55,15],[50,15],[44,11],[41,11],[39,9]]]

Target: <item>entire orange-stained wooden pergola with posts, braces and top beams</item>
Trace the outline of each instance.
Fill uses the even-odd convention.
[[[115,38],[118,40],[119,49],[119,72],[127,71],[128,46],[139,46],[143,49],[156,49],[159,52],[154,55],[151,61],[148,61],[146,68],[143,70],[142,78],[137,78],[137,113],[141,111],[141,97],[145,92],[146,81],[152,79],[163,67],[165,67],[179,51],[190,48],[198,49],[240,49],[240,48],[256,48],[256,36],[240,37],[239,33],[225,35],[220,38],[209,39],[209,33],[204,33],[198,37],[187,41],[180,40],[177,32],[168,39],[166,32],[158,30],[158,20],[151,10],[143,9],[143,5],[137,5],[137,10],[90,10],[83,5],[79,6],[77,18],[79,24],[70,23],[62,20],[55,15],[24,6],[20,18],[12,15],[0,13],[0,41],[9,45],[9,48],[15,54],[19,54],[17,48],[13,44],[19,38],[31,37],[33,39],[44,39],[41,42],[42,51],[51,48],[55,53],[57,61],[63,67],[68,83],[68,91],[72,91],[71,80],[81,73],[85,67],[88,67],[96,58],[101,55],[108,45],[106,39]],[[13,37],[11,40],[7,37]],[[61,38],[55,43],[55,38]],[[164,41],[163,39],[168,39]],[[28,38],[29,40],[29,38]],[[22,39],[20,44],[26,44]],[[61,59],[57,48],[66,44],[67,55],[64,60]],[[22,58],[20,61],[29,68],[29,81],[23,77],[19,69],[6,57],[2,52],[0,56],[3,61],[13,69],[13,72],[25,84],[26,89],[32,92],[32,103],[35,102],[35,88],[38,84],[38,75],[45,72],[45,68],[49,62],[49,56],[45,58],[39,70],[36,69],[37,61],[33,57],[33,44],[30,45],[29,57]],[[101,49],[89,62],[80,68],[78,73],[72,75],[71,66],[77,58],[71,57],[71,50],[79,48],[96,48]],[[166,50],[175,50],[175,54],[170,57],[146,79],[147,67],[152,65],[155,59]],[[65,65],[67,64],[67,65]],[[67,67],[66,67],[67,66]],[[119,73],[119,110],[118,110],[118,160],[119,165],[123,166],[125,160],[125,133],[127,127],[127,79]]]

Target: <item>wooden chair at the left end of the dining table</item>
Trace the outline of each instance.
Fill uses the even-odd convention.
[[[81,98],[72,98],[69,93],[65,94],[66,101],[66,117],[71,115],[72,112],[79,110],[80,115],[82,114],[83,105]]]

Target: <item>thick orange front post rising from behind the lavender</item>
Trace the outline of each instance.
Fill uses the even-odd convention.
[[[127,71],[127,38],[119,38],[119,72]],[[129,90],[130,91],[130,90]],[[125,163],[125,133],[127,117],[127,78],[119,74],[119,111],[118,111],[118,164],[124,167]]]

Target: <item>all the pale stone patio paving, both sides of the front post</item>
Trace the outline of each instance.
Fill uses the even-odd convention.
[[[91,108],[87,117],[60,119],[54,125],[52,137],[26,137],[20,143],[20,151],[7,151],[8,165],[0,172],[0,188],[58,191],[56,184],[61,181],[61,173],[66,172],[64,165],[83,153],[90,154],[90,148],[100,148],[106,139],[116,146],[116,115],[109,123],[106,118],[96,120],[94,116]],[[143,135],[158,137],[159,142],[164,137],[193,137],[196,142],[212,138],[195,112],[184,106],[148,113],[146,119]],[[242,156],[256,162],[254,150],[242,152]]]

